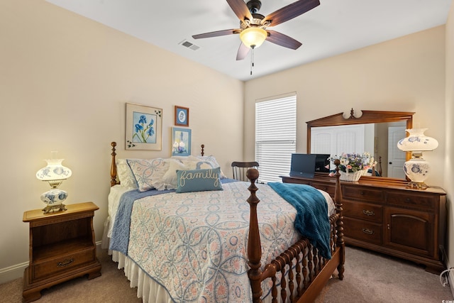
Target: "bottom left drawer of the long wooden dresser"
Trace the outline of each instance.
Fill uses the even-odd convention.
[[[355,238],[367,243],[382,244],[382,225],[370,221],[344,217],[345,237]]]

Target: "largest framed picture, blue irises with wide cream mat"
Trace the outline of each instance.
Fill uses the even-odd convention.
[[[126,103],[127,150],[162,149],[162,109]]]

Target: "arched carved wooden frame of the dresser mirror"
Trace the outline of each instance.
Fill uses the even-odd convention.
[[[341,125],[353,125],[353,124],[365,124],[365,123],[384,123],[384,122],[397,122],[405,121],[406,129],[413,127],[413,115],[411,111],[361,111],[362,114],[359,117],[355,116],[355,111],[350,110],[350,116],[344,118],[343,113],[326,116],[320,119],[307,121],[307,148],[306,152],[311,153],[311,129],[313,127],[320,126],[341,126]],[[408,136],[408,135],[407,135]],[[411,158],[411,153],[406,153],[406,160]],[[383,179],[391,179],[383,177]]]

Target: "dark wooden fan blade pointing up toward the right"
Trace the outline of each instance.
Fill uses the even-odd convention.
[[[319,0],[299,0],[282,7],[282,9],[278,9],[274,13],[270,13],[268,16],[263,18],[262,24],[265,23],[265,21],[269,21],[269,26],[276,26],[279,23],[289,21],[290,19],[306,13],[306,11],[310,11],[319,5]]]

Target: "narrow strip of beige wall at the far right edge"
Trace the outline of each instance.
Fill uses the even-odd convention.
[[[446,23],[446,100],[445,100],[445,179],[443,187],[448,192],[448,268],[454,265],[454,0]],[[454,292],[454,275],[450,275],[451,291]]]

